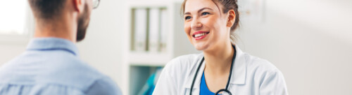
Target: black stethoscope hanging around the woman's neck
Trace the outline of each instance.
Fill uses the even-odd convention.
[[[236,49],[235,49],[234,45],[232,45],[232,47],[234,48],[234,57],[232,57],[232,62],[231,62],[231,67],[230,67],[230,75],[229,75],[229,78],[228,78],[228,80],[227,80],[226,88],[225,88],[225,89],[220,89],[220,90],[218,90],[218,92],[216,92],[215,95],[220,94],[220,92],[226,92],[226,93],[232,95],[231,92],[228,90],[228,88],[229,88],[229,83],[230,83],[230,80],[231,80],[231,75],[232,75],[232,65],[234,65],[234,59],[236,58]],[[201,68],[201,64],[203,64],[203,61],[204,61],[204,57],[203,57],[203,59],[201,59],[201,63],[199,64],[199,66],[198,66],[198,68],[197,68],[197,71],[196,71],[196,74],[194,75],[193,82],[192,82],[192,85],[191,85],[191,92],[189,92],[190,95],[192,94],[192,89],[193,89],[193,86],[194,86],[194,81],[196,81],[196,76],[197,76],[197,74],[198,74],[199,69]]]

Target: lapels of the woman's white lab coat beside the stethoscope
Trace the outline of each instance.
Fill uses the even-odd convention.
[[[236,48],[236,58],[234,59],[234,65],[232,67],[233,69],[232,69],[230,84],[244,85],[246,82],[246,57],[244,56],[245,53],[242,52],[237,45],[235,45],[235,48]],[[200,64],[199,62],[201,62],[201,59],[203,57],[204,57],[204,54],[201,53],[194,61],[196,62],[196,64],[193,64],[191,71],[189,71],[187,75],[185,88],[188,88],[188,89],[191,88],[196,69],[198,68]],[[201,65],[201,68],[199,69],[199,72],[196,76],[196,80],[194,82],[194,86],[193,86],[194,89],[199,88],[201,84],[201,75],[204,71],[205,66],[206,66],[205,61],[203,61],[203,64]]]

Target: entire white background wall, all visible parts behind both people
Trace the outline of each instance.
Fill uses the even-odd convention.
[[[122,80],[122,32],[125,4],[103,0],[93,10],[87,36],[77,46],[80,57],[119,85]],[[292,95],[352,94],[352,1],[267,0],[265,22],[243,20],[242,50],[279,68]],[[0,43],[0,63],[26,44]]]

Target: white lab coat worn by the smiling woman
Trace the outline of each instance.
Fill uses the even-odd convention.
[[[253,57],[236,47],[229,91],[232,95],[287,95],[284,75],[269,61]],[[189,54],[172,59],[160,75],[153,95],[188,95],[203,54]],[[192,94],[199,95],[201,75],[196,76]],[[225,88],[225,87],[224,87]]]

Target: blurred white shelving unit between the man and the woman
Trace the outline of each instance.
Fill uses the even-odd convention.
[[[142,88],[149,75],[156,70],[157,67],[163,67],[171,59],[183,55],[199,53],[184,33],[183,17],[180,15],[181,1],[131,1],[128,3],[127,26],[124,34],[124,65],[122,69],[123,79],[120,85],[122,93],[126,95],[134,95]],[[136,8],[162,8],[166,10],[167,22],[165,32],[165,50],[162,52],[151,51],[134,51],[133,46],[133,26],[134,26],[134,9]]]

